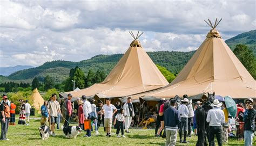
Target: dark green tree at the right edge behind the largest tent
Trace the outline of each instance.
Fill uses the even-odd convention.
[[[250,72],[252,77],[256,79],[256,58],[251,49],[246,45],[237,45],[233,53],[238,57],[244,67]]]

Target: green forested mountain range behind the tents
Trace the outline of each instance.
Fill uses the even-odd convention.
[[[253,50],[254,55],[256,55],[256,30],[241,33],[231,39],[225,41],[227,45],[233,50],[235,45],[241,43],[247,45]],[[161,65],[167,68],[173,74],[178,74],[178,72],[184,67],[188,60],[192,57],[195,51],[192,52],[147,52],[155,64]],[[21,69],[10,74],[8,77],[0,76],[1,82],[32,82],[32,79],[38,77],[39,81],[43,82],[46,75],[50,75],[55,82],[61,83],[69,76],[69,71],[71,68],[76,66],[82,68],[85,74],[91,69],[93,71],[104,70],[106,74],[112,70],[114,65],[120,60],[123,54],[113,54],[113,55],[96,55],[91,59],[83,60],[79,62],[56,60],[51,62],[45,62],[43,65],[33,68],[28,66],[27,69]],[[1,75],[2,70],[7,70],[0,68]],[[8,73],[4,74],[5,76]]]

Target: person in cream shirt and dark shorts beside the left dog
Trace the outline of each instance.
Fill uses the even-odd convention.
[[[49,101],[48,103],[48,109],[50,113],[50,120],[51,120],[51,132],[50,135],[55,136],[55,123],[57,123],[57,118],[58,118],[58,112],[60,113],[60,105],[58,101],[56,100],[57,94],[53,93],[51,95],[52,100]]]

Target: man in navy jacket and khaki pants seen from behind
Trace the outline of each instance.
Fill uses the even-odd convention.
[[[166,130],[166,143],[165,145],[175,146],[178,135],[178,125],[180,121],[180,117],[178,114],[178,110],[175,108],[176,100],[171,99],[170,101],[171,107],[167,108],[164,111],[164,123]]]

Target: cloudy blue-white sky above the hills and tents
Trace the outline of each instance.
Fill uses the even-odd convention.
[[[0,67],[81,61],[125,53],[139,38],[146,51],[196,50],[223,18],[224,40],[256,28],[254,0],[0,1]]]

